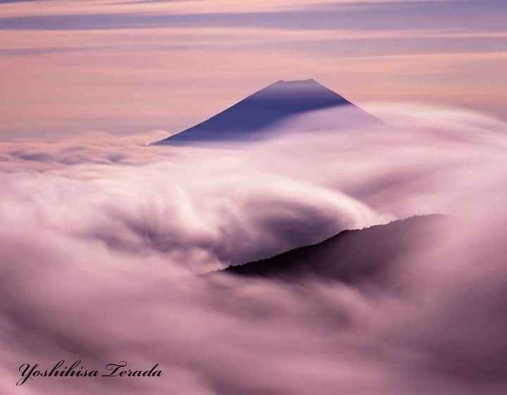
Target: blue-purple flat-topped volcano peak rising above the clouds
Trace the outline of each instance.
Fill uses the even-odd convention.
[[[364,119],[374,119],[315,80],[280,80],[210,119],[153,144],[193,145],[199,142],[255,140],[263,137],[266,128],[290,116],[339,106],[357,109]]]

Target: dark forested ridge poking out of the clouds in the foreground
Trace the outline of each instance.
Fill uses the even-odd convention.
[[[281,280],[318,277],[348,284],[375,279],[401,260],[431,248],[439,238],[437,230],[450,221],[451,217],[431,214],[346,230],[318,244],[219,272]]]

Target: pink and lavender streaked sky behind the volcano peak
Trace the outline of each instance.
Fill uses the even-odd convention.
[[[276,80],[507,119],[504,0],[0,0],[0,139],[192,126]]]

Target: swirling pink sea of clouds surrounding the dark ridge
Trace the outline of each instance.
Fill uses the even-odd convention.
[[[346,111],[325,110],[236,147],[146,147],[160,132],[1,142],[0,391],[506,393],[507,125],[372,109],[382,123],[336,130]],[[463,222],[384,285],[196,276],[435,212]],[[163,377],[15,387],[22,363],[60,359]]]

